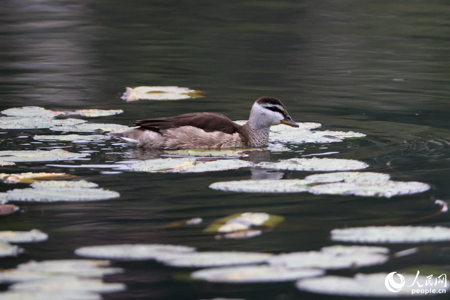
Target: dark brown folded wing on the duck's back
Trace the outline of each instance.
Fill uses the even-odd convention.
[[[194,126],[206,132],[222,131],[229,134],[238,132],[240,129],[240,125],[223,114],[215,112],[184,113],[176,116],[138,120],[135,125],[156,132],[181,126]]]

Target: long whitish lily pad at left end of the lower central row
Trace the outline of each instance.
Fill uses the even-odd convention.
[[[108,258],[120,260],[155,259],[158,255],[168,253],[194,252],[194,247],[163,244],[120,244],[104,246],[87,246],[75,250],[75,254],[83,257]]]

